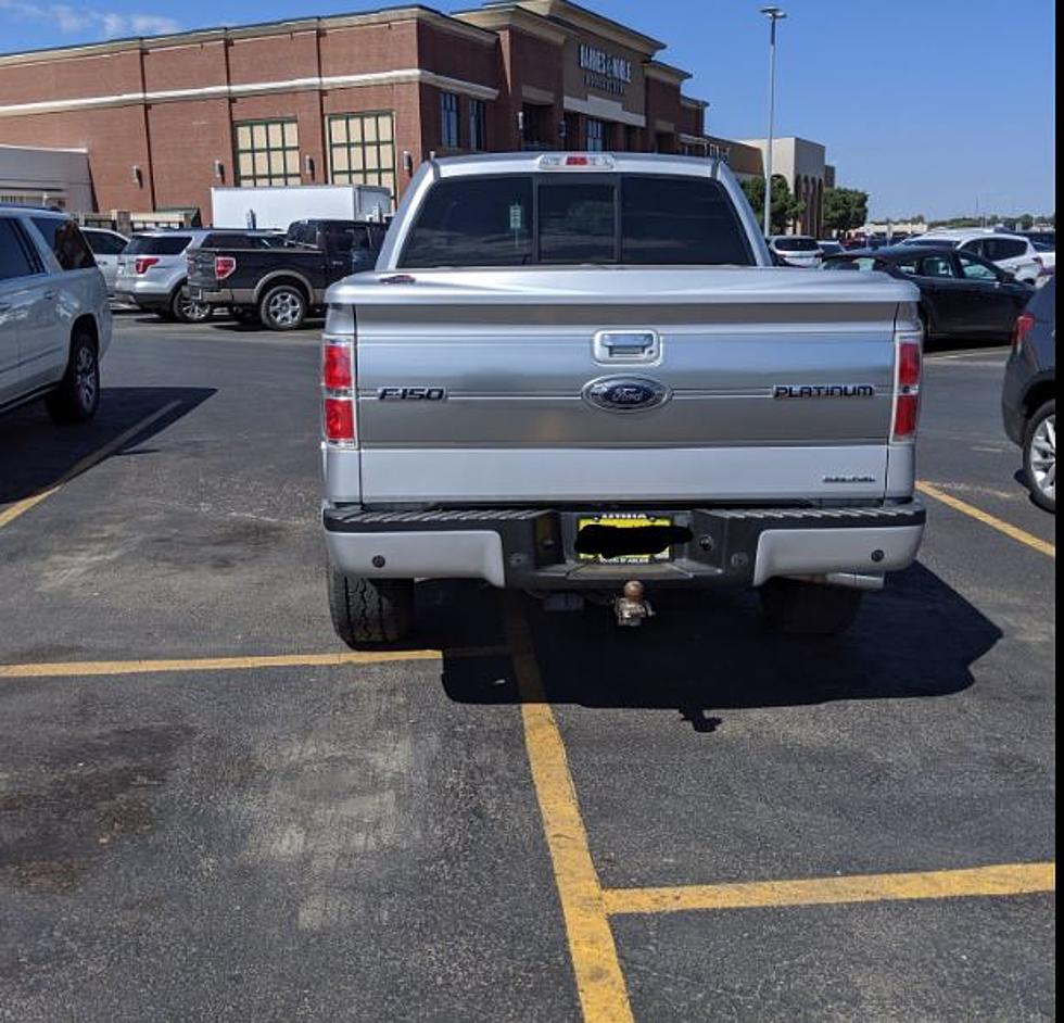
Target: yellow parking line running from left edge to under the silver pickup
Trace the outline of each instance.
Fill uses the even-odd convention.
[[[0,679],[61,679],[169,671],[245,671],[251,668],[339,668],[343,665],[442,660],[444,657],[491,657],[507,653],[509,648],[506,646],[466,646],[448,651],[351,651],[337,654],[267,654],[169,660],[69,660],[42,665],[0,665]]]

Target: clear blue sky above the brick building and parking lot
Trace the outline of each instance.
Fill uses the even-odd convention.
[[[1055,209],[1052,0],[778,0],[776,134],[824,142],[876,216]],[[453,11],[476,0],[430,3]],[[668,43],[708,130],[764,135],[768,26],[757,0],[583,0]],[[229,24],[387,0],[230,0]],[[0,52],[219,23],[208,0],[0,0]]]

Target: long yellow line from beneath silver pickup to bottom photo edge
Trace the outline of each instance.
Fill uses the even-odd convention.
[[[580,817],[566,747],[550,705],[544,697],[520,597],[512,592],[506,597],[505,619],[522,699],[524,744],[584,1020],[588,1023],[623,1023],[633,1019],[632,1007],[606,917],[603,888]]]

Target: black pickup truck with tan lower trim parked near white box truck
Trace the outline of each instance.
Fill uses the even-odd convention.
[[[321,307],[329,285],[372,269],[383,224],[296,220],[276,249],[197,249],[189,255],[189,294],[270,330],[295,330]]]

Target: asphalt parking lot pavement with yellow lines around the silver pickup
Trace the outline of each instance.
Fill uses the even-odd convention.
[[[314,329],[119,318],[0,418],[0,1019],[1051,1019],[1055,523],[1004,350],[924,384],[920,563],[832,643],[419,589],[329,623]]]

